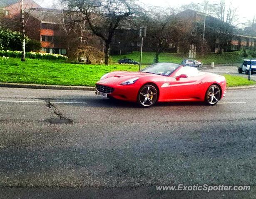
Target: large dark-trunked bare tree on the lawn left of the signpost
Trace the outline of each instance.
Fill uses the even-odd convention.
[[[109,63],[110,43],[117,28],[137,13],[134,0],[65,0],[71,12],[78,11],[92,32],[105,42],[105,65]]]

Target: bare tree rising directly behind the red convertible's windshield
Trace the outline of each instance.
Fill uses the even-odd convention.
[[[184,24],[184,19],[175,17],[173,8],[149,7],[147,10],[141,22],[147,26],[145,46],[156,52],[155,62],[158,63],[161,53],[183,42],[189,23]]]

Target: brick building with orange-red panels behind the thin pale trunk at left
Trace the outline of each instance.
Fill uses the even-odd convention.
[[[62,42],[65,36],[61,27],[62,11],[42,8],[32,0],[24,0],[24,17],[26,35],[30,39],[41,42],[42,51],[47,53],[66,54],[67,46]],[[20,29],[20,3],[9,5],[3,9],[7,26]],[[11,22],[11,23],[10,23]]]

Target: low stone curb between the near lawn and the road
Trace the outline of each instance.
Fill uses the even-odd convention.
[[[42,85],[42,84],[17,84],[17,83],[0,83],[0,87],[7,88],[34,88],[34,89],[50,89],[50,90],[85,90],[95,91],[95,87],[90,86],[58,86],[58,85]],[[253,86],[227,87],[226,90],[246,90],[256,88]]]

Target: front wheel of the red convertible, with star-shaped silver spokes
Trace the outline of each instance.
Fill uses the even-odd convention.
[[[148,84],[139,90],[137,102],[141,107],[151,107],[157,102],[157,97],[157,88]]]

